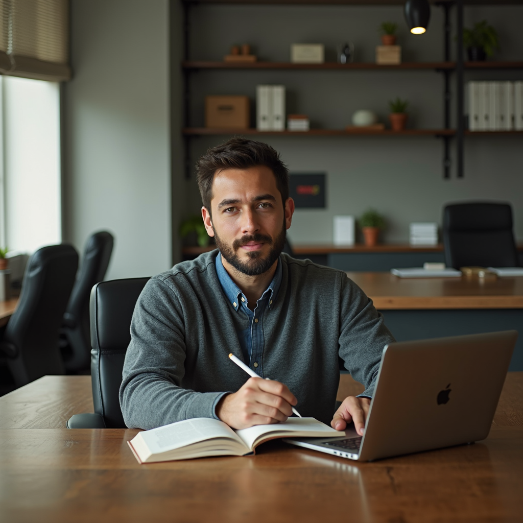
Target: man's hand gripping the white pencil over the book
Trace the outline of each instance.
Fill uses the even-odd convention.
[[[222,422],[240,429],[253,425],[285,422],[298,403],[279,381],[249,378],[238,392],[224,396],[216,407]]]

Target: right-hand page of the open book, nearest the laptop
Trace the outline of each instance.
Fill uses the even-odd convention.
[[[340,436],[345,432],[338,431],[319,422],[315,418],[287,418],[283,423],[274,425],[255,425],[254,427],[235,430],[245,445],[254,450],[261,442],[273,437],[316,437],[322,436]]]

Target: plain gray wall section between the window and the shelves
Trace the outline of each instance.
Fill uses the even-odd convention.
[[[107,278],[172,263],[168,1],[73,0],[64,88],[64,240],[111,231]]]

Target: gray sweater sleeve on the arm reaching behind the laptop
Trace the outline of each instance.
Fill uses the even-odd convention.
[[[371,397],[383,347],[394,337],[372,300],[352,280],[340,277],[339,357],[350,375],[365,386],[361,396]]]

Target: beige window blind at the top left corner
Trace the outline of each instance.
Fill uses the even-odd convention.
[[[71,78],[69,0],[0,0],[0,73]]]

